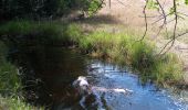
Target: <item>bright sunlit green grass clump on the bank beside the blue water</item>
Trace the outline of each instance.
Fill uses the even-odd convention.
[[[127,65],[140,74],[143,82],[152,80],[158,85],[179,81],[182,66],[174,54],[157,56],[156,46],[148,41],[136,42],[127,33],[93,32],[79,42],[82,51],[97,57]]]

